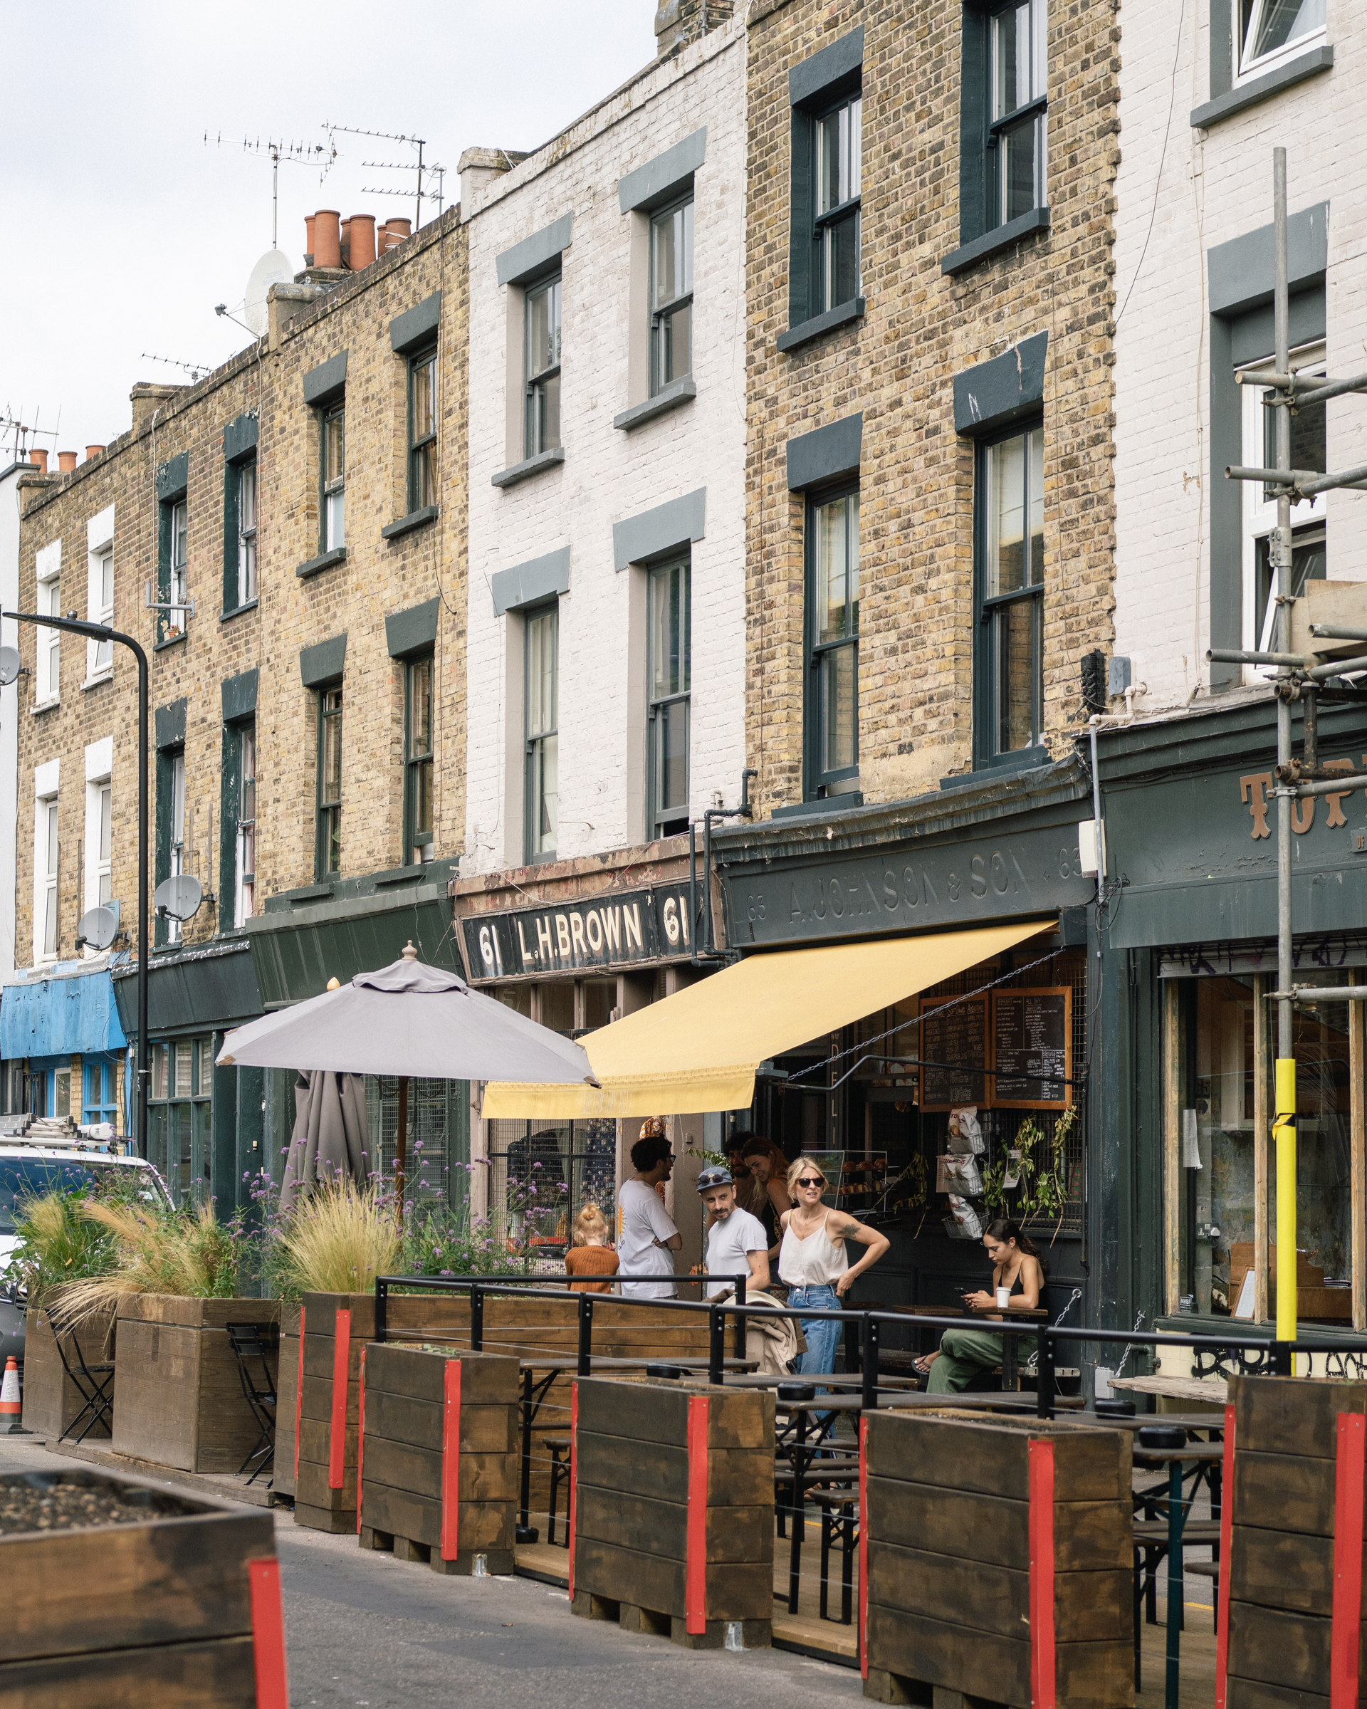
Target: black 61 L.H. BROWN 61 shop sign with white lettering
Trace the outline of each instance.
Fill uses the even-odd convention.
[[[692,955],[689,887],[612,890],[560,907],[516,907],[461,921],[473,983],[545,978]]]

